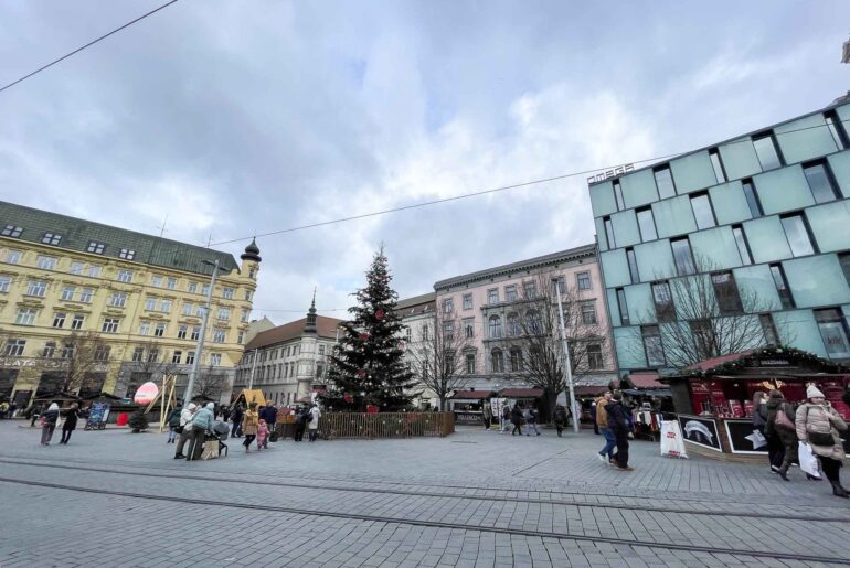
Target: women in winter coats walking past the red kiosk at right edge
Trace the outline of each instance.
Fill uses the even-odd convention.
[[[844,399],[850,404],[850,390],[844,393]],[[767,442],[771,471],[790,481],[788,469],[797,460],[799,442],[803,442],[817,457],[820,470],[832,485],[832,494],[848,499],[839,478],[844,461],[841,436],[847,433],[847,422],[829,405],[820,389],[808,386],[806,401],[796,409],[778,389],[756,392],[753,396],[753,426]],[[809,473],[806,476],[809,480],[820,479]]]

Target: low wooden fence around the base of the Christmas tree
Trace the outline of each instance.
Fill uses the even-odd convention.
[[[318,436],[334,438],[443,438],[455,432],[451,412],[323,412]]]

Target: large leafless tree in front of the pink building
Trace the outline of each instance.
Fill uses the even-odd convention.
[[[576,288],[567,287],[563,276],[553,271],[540,272],[523,282],[519,301],[506,310],[504,333],[496,332],[503,339],[490,352],[495,372],[507,369],[543,389],[545,405],[541,410],[546,420],[559,394],[567,388],[556,282],[573,377],[603,368],[607,334],[599,324],[598,306],[592,298],[583,298]]]

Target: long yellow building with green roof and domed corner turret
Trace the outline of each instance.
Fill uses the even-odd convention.
[[[213,264],[195,394],[229,400],[259,250],[227,253],[0,202],[0,400],[25,407],[60,392],[132,396],[178,375],[195,347]]]

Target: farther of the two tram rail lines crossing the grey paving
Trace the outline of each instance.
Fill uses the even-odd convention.
[[[132,475],[153,479],[172,479],[172,480],[192,480],[192,481],[206,481],[213,483],[233,483],[233,484],[246,484],[246,485],[262,485],[262,486],[277,486],[277,487],[293,487],[293,489],[311,489],[320,491],[333,491],[341,493],[369,493],[378,495],[405,495],[416,497],[436,497],[436,499],[457,499],[469,501],[486,501],[486,502],[502,502],[502,503],[529,503],[529,504],[545,504],[556,506],[572,506],[572,507],[589,507],[589,508],[605,508],[617,511],[638,511],[638,512],[654,512],[654,513],[672,513],[672,514],[686,514],[697,516],[711,516],[711,517],[741,517],[741,518],[757,518],[764,521],[782,519],[782,521],[800,521],[806,523],[848,523],[850,522],[850,511],[844,516],[824,516],[824,515],[765,515],[752,511],[694,511],[693,508],[684,507],[660,507],[652,505],[638,505],[638,504],[621,504],[621,503],[593,503],[593,502],[575,502],[567,500],[555,499],[540,499],[540,497],[520,497],[520,496],[506,496],[506,495],[468,495],[459,493],[440,493],[436,491],[422,491],[422,490],[396,490],[396,489],[374,489],[362,487],[353,485],[336,485],[328,486],[316,483],[307,482],[294,482],[294,481],[277,481],[277,480],[249,480],[249,479],[232,479],[232,478],[217,478],[212,475],[199,475],[199,474],[170,474],[170,473],[153,473],[153,472],[139,472],[139,471],[120,471],[115,469],[85,467],[85,465],[70,465],[67,463],[39,463],[26,460],[17,459],[0,459],[2,463],[11,463],[15,465],[33,467],[33,468],[49,468],[60,470],[75,470],[75,471],[88,471],[95,473],[119,474],[119,475]],[[232,474],[232,473],[231,473]],[[373,483],[373,482],[370,482]],[[575,492],[575,494],[584,495],[585,493]],[[624,499],[624,497],[620,497]],[[651,500],[654,497],[625,497],[625,499],[645,499]],[[703,502],[709,503],[709,500]],[[735,502],[740,504],[740,502]]]

